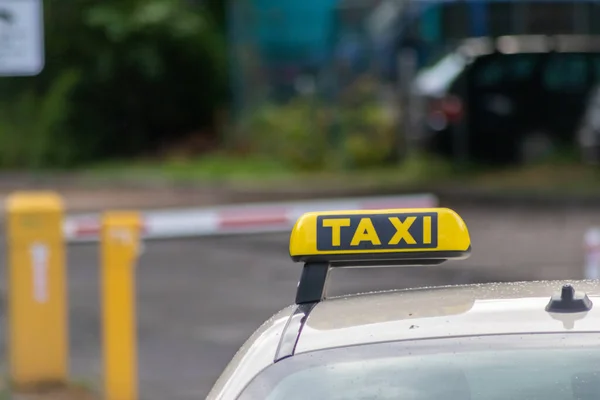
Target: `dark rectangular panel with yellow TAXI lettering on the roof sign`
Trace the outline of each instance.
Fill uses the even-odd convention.
[[[317,217],[317,250],[430,249],[437,247],[437,213]]]

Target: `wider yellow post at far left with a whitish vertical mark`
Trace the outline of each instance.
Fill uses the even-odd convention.
[[[8,360],[16,388],[68,378],[63,203],[52,192],[17,192],[6,201]]]

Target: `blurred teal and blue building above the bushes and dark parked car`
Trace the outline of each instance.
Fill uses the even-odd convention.
[[[595,0],[239,0],[229,3],[229,17],[236,94],[274,99],[336,63],[353,74],[395,76],[402,45],[418,47],[425,63],[465,37],[600,34]]]

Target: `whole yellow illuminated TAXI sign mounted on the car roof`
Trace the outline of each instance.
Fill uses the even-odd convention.
[[[296,262],[438,264],[470,255],[463,219],[448,208],[306,213],[290,238]]]

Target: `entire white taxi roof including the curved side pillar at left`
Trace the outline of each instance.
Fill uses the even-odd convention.
[[[600,302],[600,281],[486,283],[373,292],[290,306],[275,314],[242,346],[208,399],[235,398],[272,365],[286,342],[286,356],[386,341],[600,331],[600,308],[587,313],[549,313],[546,305],[563,285]],[[304,310],[298,313],[298,310]],[[301,318],[295,319],[300,316]],[[300,325],[298,325],[300,324]],[[235,376],[235,379],[231,379]]]

